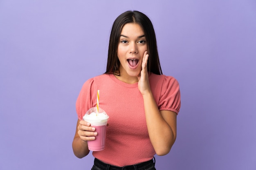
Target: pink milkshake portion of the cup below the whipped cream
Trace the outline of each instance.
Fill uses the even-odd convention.
[[[107,125],[103,126],[93,126],[98,133],[93,141],[87,141],[89,150],[99,151],[105,148],[105,139],[106,139],[106,129]]]

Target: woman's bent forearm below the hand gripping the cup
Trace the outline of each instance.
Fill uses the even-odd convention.
[[[83,158],[89,154],[87,141],[82,141],[80,137],[75,137],[72,143],[74,155],[78,158]]]

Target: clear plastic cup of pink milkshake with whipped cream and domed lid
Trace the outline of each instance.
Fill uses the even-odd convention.
[[[109,118],[103,109],[99,108],[99,113],[96,110],[96,107],[90,108],[83,116],[83,119],[89,122],[97,132],[95,140],[87,141],[88,149],[92,151],[99,151],[105,148],[106,129]]]

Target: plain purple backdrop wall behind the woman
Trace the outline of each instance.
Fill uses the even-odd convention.
[[[130,9],[152,20],[182,93],[157,169],[256,169],[255,0],[0,0],[0,170],[90,170],[72,152],[76,97]]]

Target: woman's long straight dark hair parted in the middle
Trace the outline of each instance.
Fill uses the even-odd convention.
[[[147,50],[148,50],[148,72],[162,75],[162,69],[159,62],[159,55],[157,51],[157,41],[155,37],[155,30],[150,19],[139,11],[126,11],[119,15],[113,23],[110,33],[110,40],[108,46],[108,63],[105,74],[119,73],[120,61],[117,56],[117,49],[121,31],[125,24],[136,23],[139,24],[144,31]]]

